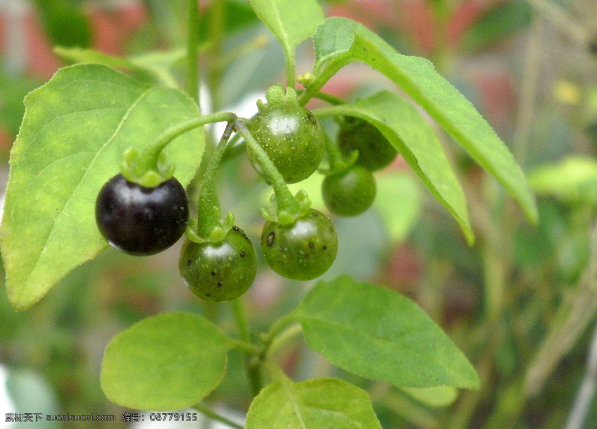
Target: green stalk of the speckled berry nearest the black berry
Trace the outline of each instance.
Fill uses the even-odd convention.
[[[216,149],[211,154],[210,162],[207,164],[201,186],[199,187],[197,234],[202,239],[209,239],[214,227],[220,226],[219,215],[214,209],[217,207],[217,203],[214,200],[214,183],[217,169],[220,166],[222,155],[224,150],[226,150],[226,144],[230,139],[233,128],[234,123],[228,122]]]

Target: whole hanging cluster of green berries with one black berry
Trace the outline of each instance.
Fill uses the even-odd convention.
[[[286,185],[310,177],[327,153],[330,168],[321,190],[325,205],[338,216],[355,216],[373,204],[373,172],[392,162],[396,150],[374,125],[358,118],[342,118],[332,143],[316,116],[298,104],[293,89],[272,87],[267,103],[257,104],[259,113],[250,120],[224,116],[229,124],[205,171],[196,219],[189,219],[189,200],[172,176],[173,168],[164,172],[156,167],[156,154],[167,141],[146,151],[153,158],[125,153],[123,174],[109,180],[96,200],[97,225],[110,245],[132,255],[151,255],[186,233],[179,271],[189,290],[215,302],[244,294],[257,274],[256,251],[231,213],[220,219],[213,200],[216,169],[236,131],[244,137],[251,165],[275,191],[272,206],[263,209],[267,221],[261,252],[266,263],[288,279],[324,274],[338,250],[334,225],[310,208],[306,193],[292,196]],[[160,177],[161,183],[153,186]]]

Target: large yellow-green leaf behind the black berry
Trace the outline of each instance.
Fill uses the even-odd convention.
[[[118,174],[124,150],[141,150],[169,126],[199,115],[182,92],[93,64],[59,70],[24,103],[0,226],[8,297],[17,310],[107,247],[96,226],[96,197]],[[199,129],[165,150],[183,186],[203,149]]]

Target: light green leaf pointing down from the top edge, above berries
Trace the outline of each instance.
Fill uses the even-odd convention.
[[[282,44],[286,58],[288,84],[294,84],[295,53],[300,42],[310,38],[324,21],[316,0],[249,0],[267,29]]]

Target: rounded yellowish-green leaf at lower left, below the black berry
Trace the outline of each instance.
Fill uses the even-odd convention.
[[[118,405],[171,411],[214,390],[235,342],[204,317],[166,313],[116,335],[104,351],[101,388]]]

